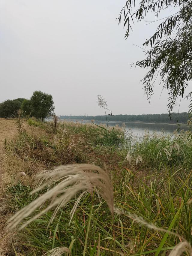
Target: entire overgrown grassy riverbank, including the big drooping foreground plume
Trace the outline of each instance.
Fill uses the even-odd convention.
[[[3,148],[1,219],[5,225],[24,209],[12,218],[10,228],[17,220],[18,226],[28,224],[14,231],[2,255],[43,255],[59,248],[68,255],[158,255],[169,254],[181,237],[190,242],[188,135],[145,135],[135,141],[121,128],[108,131],[79,122],[55,127],[26,120]],[[58,165],[64,167],[55,170]],[[43,176],[35,179],[41,171]],[[26,177],[14,184],[20,172]],[[30,194],[38,184],[41,189]],[[55,206],[48,209],[51,203]]]

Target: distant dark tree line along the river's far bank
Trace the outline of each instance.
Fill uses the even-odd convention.
[[[61,119],[84,119],[106,121],[106,116],[60,116]],[[110,119],[110,117],[108,117]],[[114,115],[110,121],[114,122],[146,122],[146,123],[187,123],[189,114],[172,113],[171,119],[169,114],[147,114],[147,115]]]

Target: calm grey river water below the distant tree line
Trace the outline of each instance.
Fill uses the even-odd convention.
[[[63,119],[62,119],[63,120]],[[73,122],[79,122],[79,123],[91,123],[90,120],[66,120],[66,121],[73,121]],[[97,125],[107,125],[106,122],[102,121],[94,121],[93,123]],[[176,125],[176,124],[163,124],[163,123],[139,123],[139,122],[108,122],[108,125],[110,127],[113,127],[114,125],[119,125],[121,127],[122,125],[125,125],[125,128],[127,131],[132,131],[134,135],[142,136],[145,133],[153,134],[156,132],[157,134],[162,134],[163,132],[166,134],[173,134],[173,131],[178,130],[184,130],[187,131],[189,129],[188,125]]]

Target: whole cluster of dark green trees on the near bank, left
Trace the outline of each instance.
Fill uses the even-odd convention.
[[[35,91],[30,99],[17,98],[2,102],[0,117],[13,117],[14,113],[21,109],[26,115],[43,120],[54,113],[53,103],[52,95]]]

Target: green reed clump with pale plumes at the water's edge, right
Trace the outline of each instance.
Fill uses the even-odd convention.
[[[159,164],[190,168],[192,166],[192,141],[187,134],[146,135],[130,146],[132,158],[142,157],[142,163],[150,168]]]

